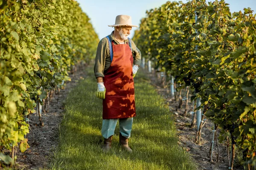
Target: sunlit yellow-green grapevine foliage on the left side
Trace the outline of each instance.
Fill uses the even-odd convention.
[[[0,1],[0,152],[28,148],[24,116],[92,59],[99,41],[74,0]]]

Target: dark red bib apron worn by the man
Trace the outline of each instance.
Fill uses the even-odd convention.
[[[133,56],[128,44],[113,47],[113,60],[104,72],[106,88],[103,100],[103,119],[119,119],[136,116],[134,79],[132,77]]]

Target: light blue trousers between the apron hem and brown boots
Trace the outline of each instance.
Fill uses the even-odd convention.
[[[116,123],[118,119],[103,119],[102,120],[102,136],[108,139],[110,136],[114,135]],[[125,138],[130,138],[131,136],[131,126],[133,117],[119,119],[119,130],[122,136]]]

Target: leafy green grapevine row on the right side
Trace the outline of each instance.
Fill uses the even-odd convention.
[[[195,88],[222,136],[234,136],[244,164],[256,167],[256,15],[250,8],[231,14],[227,5],[167,2],[147,11],[134,42],[176,82]]]

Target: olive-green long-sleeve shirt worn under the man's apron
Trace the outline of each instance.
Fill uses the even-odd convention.
[[[113,32],[109,35],[111,41],[114,40],[114,44],[120,44],[115,40]],[[125,43],[128,40],[125,40]],[[131,40],[131,51],[134,57],[134,65],[140,65],[141,62],[141,53],[140,50],[136,47],[133,40]],[[108,46],[108,39],[104,37],[99,41],[98,48],[96,51],[95,65],[94,65],[94,75],[95,77],[104,77],[104,71],[107,70],[111,65],[111,58]]]

